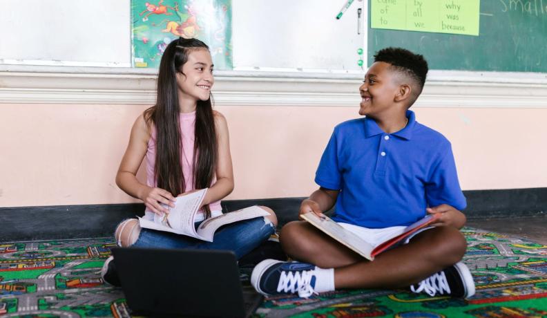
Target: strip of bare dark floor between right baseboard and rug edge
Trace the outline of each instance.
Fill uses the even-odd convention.
[[[466,226],[521,236],[547,245],[547,215],[470,219]]]

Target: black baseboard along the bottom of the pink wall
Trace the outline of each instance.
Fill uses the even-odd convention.
[[[468,199],[466,216],[501,218],[544,215],[547,211],[547,188],[464,191]],[[222,201],[224,211],[251,205],[274,209],[279,226],[296,220],[303,198],[270,198]],[[114,205],[69,205],[48,207],[0,208],[0,242],[56,238],[90,238],[113,236],[124,218],[142,216],[139,203]]]

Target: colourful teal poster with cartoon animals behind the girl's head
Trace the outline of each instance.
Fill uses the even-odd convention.
[[[193,37],[209,46],[215,69],[232,69],[231,0],[148,1],[131,0],[133,67],[157,68],[167,44]]]

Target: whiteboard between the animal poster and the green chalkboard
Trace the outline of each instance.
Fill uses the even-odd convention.
[[[364,1],[354,1],[341,19],[345,0],[233,0],[234,69],[362,71]],[[358,34],[357,9],[361,8]],[[365,57],[365,55],[361,55]],[[365,61],[366,62],[366,61]]]

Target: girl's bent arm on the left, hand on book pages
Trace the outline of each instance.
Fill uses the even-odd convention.
[[[137,170],[146,155],[149,139],[150,133],[148,132],[146,121],[143,115],[140,115],[135,120],[135,124],[133,124],[133,128],[131,129],[129,144],[116,174],[116,185],[124,190],[126,194],[133,196],[133,198],[143,200],[146,207],[151,209],[151,211],[166,213],[168,212],[167,209],[162,207],[160,203],[174,207],[175,205],[171,201],[175,200],[175,198],[173,198],[169,191],[148,187],[140,183],[136,176]]]

